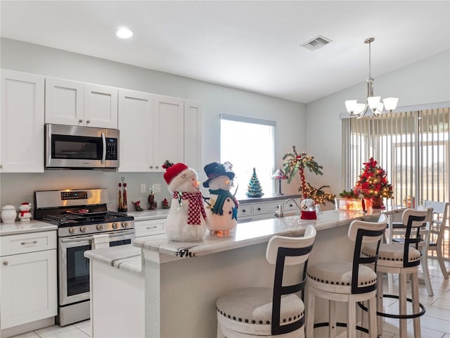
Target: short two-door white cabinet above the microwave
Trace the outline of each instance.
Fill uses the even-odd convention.
[[[117,88],[46,77],[45,122],[117,129]]]

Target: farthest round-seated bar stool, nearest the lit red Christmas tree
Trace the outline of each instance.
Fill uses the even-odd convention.
[[[420,227],[427,217],[426,210],[418,211],[406,209],[401,220],[406,225],[404,244],[381,244],[378,248],[377,277],[377,309],[378,334],[383,333],[383,318],[397,318],[400,320],[400,337],[406,337],[406,319],[413,318],[414,337],[420,338],[420,316],[425,313],[425,307],[419,303],[418,294],[418,265],[420,264],[420,251],[411,246],[418,244]],[[363,254],[370,257],[375,255],[375,246],[370,244],[363,248]],[[399,275],[399,295],[383,294],[383,273],[396,273]],[[411,299],[406,298],[406,279],[411,276]],[[399,315],[383,313],[383,297],[399,299]],[[413,304],[413,313],[406,314],[406,301]],[[419,311],[420,308],[420,311]]]

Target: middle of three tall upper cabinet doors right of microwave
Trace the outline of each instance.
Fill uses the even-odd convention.
[[[154,96],[153,169],[165,160],[184,162],[184,101],[167,96]]]

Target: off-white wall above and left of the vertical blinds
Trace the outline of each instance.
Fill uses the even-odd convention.
[[[394,57],[394,55],[392,56]],[[450,51],[399,68],[385,75],[373,74],[374,92],[381,97],[399,97],[399,108],[450,101]],[[311,184],[330,185],[330,192],[342,189],[342,144],[340,113],[345,100],[366,99],[366,82],[336,92],[307,105],[307,149],[323,165],[323,177],[311,177]],[[320,135],[318,137],[318,135]],[[361,163],[362,166],[362,163]],[[309,179],[309,177],[308,177]]]

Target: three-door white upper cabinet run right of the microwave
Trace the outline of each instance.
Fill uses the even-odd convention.
[[[166,160],[203,168],[200,102],[120,89],[118,120],[119,171],[165,172]]]

